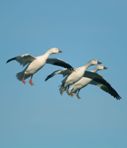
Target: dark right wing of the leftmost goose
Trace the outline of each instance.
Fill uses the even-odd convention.
[[[46,63],[61,66],[61,67],[68,68],[68,69],[73,69],[73,67],[69,63],[67,63],[61,59],[48,58]]]

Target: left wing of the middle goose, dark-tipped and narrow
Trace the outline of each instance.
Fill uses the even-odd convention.
[[[54,77],[54,76],[57,75],[57,74],[62,74],[62,75],[65,77],[66,75],[69,75],[71,72],[72,72],[72,70],[70,70],[70,69],[56,70],[56,71],[52,72],[51,74],[49,74],[49,75],[45,78],[45,81],[47,81],[48,79]]]

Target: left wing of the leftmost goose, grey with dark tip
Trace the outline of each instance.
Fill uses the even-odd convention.
[[[15,60],[18,63],[20,63],[21,65],[25,66],[25,65],[31,63],[35,59],[36,58],[31,56],[30,54],[24,54],[24,55],[21,55],[21,56],[16,56],[14,58],[11,58],[11,59],[7,60],[6,63],[9,63],[9,62]]]

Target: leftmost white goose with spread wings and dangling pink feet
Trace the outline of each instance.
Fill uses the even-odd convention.
[[[33,85],[32,78],[33,75],[39,71],[46,63],[53,64],[57,66],[62,66],[65,68],[72,68],[72,66],[63,60],[56,58],[49,58],[51,54],[61,53],[62,51],[59,48],[50,48],[43,55],[34,57],[30,54],[24,54],[20,56],[16,56],[7,60],[6,63],[11,61],[17,61],[20,65],[26,66],[23,71],[16,74],[18,80],[22,81],[25,84],[25,80],[30,77],[29,83]]]

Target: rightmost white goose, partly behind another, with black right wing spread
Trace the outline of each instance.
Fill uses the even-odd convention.
[[[98,65],[93,71],[86,71],[84,77],[82,77],[78,82],[74,83],[69,91],[69,95],[73,96],[76,94],[77,98],[80,98],[79,91],[87,86],[88,84],[92,84],[98,86],[103,91],[109,93],[117,100],[120,100],[121,97],[117,93],[117,91],[99,74],[96,72],[99,70],[107,69],[103,65]]]

